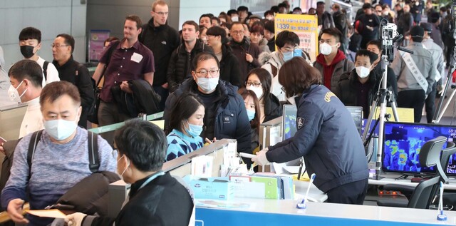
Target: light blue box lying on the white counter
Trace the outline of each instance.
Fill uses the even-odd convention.
[[[234,197],[234,183],[229,178],[191,178],[190,188],[197,199],[229,200]]]

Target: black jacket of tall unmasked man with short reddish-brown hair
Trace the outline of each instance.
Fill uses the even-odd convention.
[[[167,24],[154,26],[154,19],[149,20],[142,26],[139,41],[154,53],[155,73],[154,86],[162,86],[167,83],[166,75],[171,53],[180,43],[179,33]]]

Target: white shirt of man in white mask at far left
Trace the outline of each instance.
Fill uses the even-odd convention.
[[[44,128],[43,115],[40,109],[40,98],[34,98],[26,102],[28,104],[26,114],[21,123],[21,130],[19,130],[19,138],[24,137],[28,133],[33,133]]]

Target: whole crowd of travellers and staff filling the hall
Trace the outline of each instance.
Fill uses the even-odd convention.
[[[135,218],[133,207],[144,207],[141,200],[132,199],[133,195],[147,197],[138,190],[149,184],[169,186],[188,200],[185,217],[170,224],[188,221],[192,214],[190,196],[182,192],[182,185],[176,185],[175,179],[160,172],[161,164],[223,138],[236,139],[238,152],[258,153],[253,161],[260,164],[306,155],[309,173],[337,172],[316,179],[317,187],[328,193],[328,201],[362,204],[367,164],[362,163],[361,138],[354,125],[348,123],[351,118],[343,106],[362,106],[367,118],[380,82],[386,79],[398,107],[413,108],[414,120],[420,122],[425,106],[430,123],[436,93],[442,92],[445,81],[445,62],[448,66],[455,43],[452,35],[448,35],[453,31],[449,26],[452,18],[445,6],[435,11],[432,1],[424,4],[407,0],[391,7],[381,1],[372,4],[366,0],[351,23],[338,4],[333,4],[328,12],[325,3],[319,1],[316,9],[304,12],[299,7],[291,10],[289,1],[283,1],[262,16],[250,13],[246,6],[218,16],[203,14],[199,21],[185,21],[177,31],[167,24],[172,14],[167,3],[158,0],[152,4],[147,23],[143,24],[139,16],[126,16],[123,38],[110,37],[105,41],[105,51],[91,78],[86,66],[73,59],[75,41],[71,35],[56,36],[51,45],[53,61],[48,62],[38,56],[41,31],[24,28],[19,34],[24,60],[14,63],[7,76],[0,48],[0,103],[28,104],[20,128],[22,139],[16,150],[8,150],[8,142],[0,144],[0,151],[12,162],[11,176],[1,194],[2,206],[15,222],[31,220],[41,225],[43,222],[33,217],[22,217],[24,200],[31,203],[31,208],[41,209],[56,202],[68,188],[90,174],[86,156],[88,135],[84,128],[95,103],[93,83],[100,81],[103,88],[97,108],[98,125],[133,118],[135,115],[128,108],[155,101],[157,112],[164,111],[163,134],[167,138],[155,127],[134,120],[126,123],[120,133],[102,133],[98,139],[100,168],[115,171],[117,165],[125,181],[136,184],[132,187],[135,192],[130,192],[131,205],[125,205],[117,219],[73,215],[68,217],[71,222],[128,224],[127,218]],[[305,51],[294,56],[300,38],[292,31],[276,34],[275,14],[316,15],[316,61],[312,62]],[[422,14],[427,15],[427,22],[422,21]],[[380,63],[383,45],[378,29],[383,19],[397,24],[398,33],[405,36],[403,46],[413,50],[413,54],[395,54],[388,68],[381,68]],[[386,78],[383,71],[387,71]],[[133,97],[134,103],[120,104],[119,99],[127,96]],[[301,139],[291,138],[269,149],[261,147],[259,125],[281,116],[284,103],[298,106],[296,134]],[[337,117],[331,119],[333,115]],[[313,129],[317,127],[320,130]],[[44,132],[36,145],[31,168],[31,163],[27,164],[28,143],[39,130]],[[329,137],[340,140],[338,147],[327,143]],[[315,148],[324,148],[328,153],[312,153]],[[147,155],[147,151],[154,154]],[[336,151],[340,159],[328,155],[331,151]],[[144,156],[153,159],[145,163]],[[249,158],[243,160],[252,164]],[[350,160],[353,164],[340,165],[338,160]],[[328,163],[328,168],[323,167]],[[66,173],[65,178],[60,176],[62,172]],[[351,194],[341,196],[347,192]],[[172,198],[172,194],[162,195]],[[145,208],[150,211],[151,207]],[[163,211],[157,215],[169,215]],[[135,220],[142,222],[140,219]]]

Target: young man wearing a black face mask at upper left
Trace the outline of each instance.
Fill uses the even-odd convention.
[[[38,56],[38,51],[41,48],[40,30],[30,26],[22,29],[19,34],[19,46],[24,58],[36,61],[41,66],[43,70],[43,87],[53,81],[60,81],[56,67],[52,63],[49,63],[49,61],[45,61]]]

